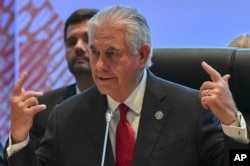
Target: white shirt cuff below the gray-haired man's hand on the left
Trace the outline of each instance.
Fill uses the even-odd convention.
[[[25,146],[28,145],[28,143],[29,143],[29,136],[27,136],[24,141],[13,145],[11,140],[11,134],[9,134],[9,145],[6,149],[8,157],[11,157],[14,153],[23,149]]]

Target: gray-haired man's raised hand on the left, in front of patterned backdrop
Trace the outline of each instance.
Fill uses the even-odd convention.
[[[20,143],[27,138],[34,115],[46,109],[46,105],[39,105],[37,100],[43,92],[25,91],[22,88],[26,79],[27,73],[24,72],[15,84],[10,99],[12,144]]]

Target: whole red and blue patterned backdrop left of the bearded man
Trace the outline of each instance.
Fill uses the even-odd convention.
[[[15,10],[14,10],[15,9]],[[73,81],[65,60],[64,23],[49,0],[1,0],[0,139],[10,129],[9,98],[21,72],[24,88],[48,91]]]

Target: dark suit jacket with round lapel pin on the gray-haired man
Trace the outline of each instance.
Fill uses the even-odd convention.
[[[222,166],[225,141],[218,119],[200,104],[197,90],[148,72],[134,166]],[[105,134],[106,96],[92,87],[52,111],[39,149],[26,146],[9,166],[99,166]],[[163,118],[157,120],[155,113]],[[38,165],[38,164],[37,164]],[[108,139],[105,166],[115,160]]]

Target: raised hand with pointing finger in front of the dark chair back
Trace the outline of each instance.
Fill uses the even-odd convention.
[[[200,87],[202,106],[211,109],[223,124],[231,124],[236,120],[238,109],[228,85],[230,75],[221,76],[206,62],[202,62],[201,65],[212,80],[205,81]]]

